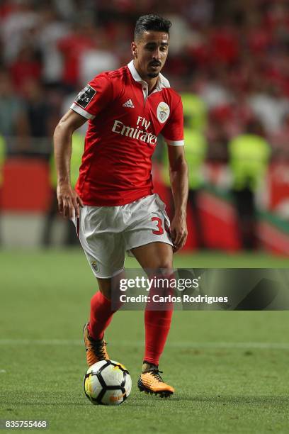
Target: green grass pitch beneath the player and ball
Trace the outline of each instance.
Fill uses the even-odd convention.
[[[259,254],[175,258],[176,267],[288,262]],[[108,352],[128,367],[132,394],[118,407],[92,406],[82,388],[81,328],[96,282],[81,250],[0,252],[0,264],[1,419],[46,419],[50,433],[288,433],[288,311],[176,311],[160,366],[176,388],[166,400],[137,390],[143,313],[118,312]]]

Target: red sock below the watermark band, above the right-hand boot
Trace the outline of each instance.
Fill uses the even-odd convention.
[[[159,365],[171,327],[173,311],[145,310],[145,357],[144,360]]]

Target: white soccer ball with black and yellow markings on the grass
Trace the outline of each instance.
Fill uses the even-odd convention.
[[[92,404],[118,406],[128,398],[131,389],[128,369],[113,360],[95,363],[84,377],[84,392]]]

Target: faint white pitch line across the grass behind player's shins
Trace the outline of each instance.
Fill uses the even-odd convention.
[[[108,340],[109,342],[109,340]],[[113,340],[113,345],[126,347],[143,346],[141,340]],[[84,345],[82,340],[77,339],[0,339],[0,345],[55,345],[55,346],[79,346]],[[168,342],[167,347],[176,348],[227,348],[227,349],[258,349],[258,350],[289,350],[289,343],[267,343],[267,342],[190,342],[178,341]]]

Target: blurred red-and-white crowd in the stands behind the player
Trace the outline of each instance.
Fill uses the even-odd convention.
[[[49,157],[55,125],[79,90],[130,61],[135,20],[145,13],[173,22],[164,74],[199,99],[193,128],[208,141],[208,158],[226,160],[229,141],[254,122],[272,158],[289,160],[287,0],[2,0],[8,155]]]

